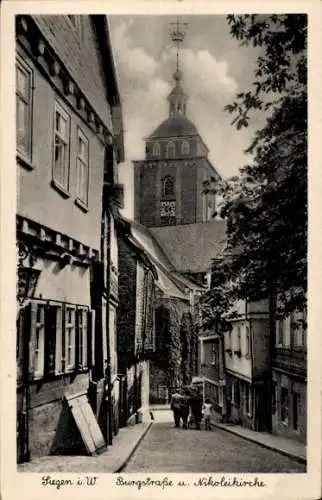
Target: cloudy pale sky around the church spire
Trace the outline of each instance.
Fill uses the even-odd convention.
[[[123,103],[125,215],[133,210],[133,167],[143,159],[144,137],[168,117],[167,95],[173,86],[176,53],[169,34],[171,16],[110,16],[112,46]],[[207,144],[209,159],[225,178],[238,172],[249,158],[243,153],[256,128],[236,131],[223,110],[253,78],[256,51],[239,47],[229,34],[225,16],[182,16],[187,22],[180,50],[184,88],[189,95],[187,117]]]

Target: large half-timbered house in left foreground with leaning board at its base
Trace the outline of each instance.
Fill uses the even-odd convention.
[[[105,16],[17,16],[16,113],[17,453],[24,461],[77,445],[78,437],[67,439],[73,422],[62,399],[98,387],[110,365],[97,293],[104,283],[95,269],[107,280],[104,175],[123,150]],[[111,220],[105,226],[113,232]]]

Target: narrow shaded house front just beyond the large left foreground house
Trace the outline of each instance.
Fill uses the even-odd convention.
[[[118,223],[119,309],[117,355],[122,426],[149,418],[150,357],[155,349],[156,270],[131,238],[130,225]]]

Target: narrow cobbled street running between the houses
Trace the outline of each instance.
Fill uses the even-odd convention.
[[[155,423],[124,472],[305,472],[305,465],[220,429],[176,429],[170,411]]]

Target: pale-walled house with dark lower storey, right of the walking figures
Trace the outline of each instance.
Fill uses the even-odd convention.
[[[224,335],[226,418],[256,431],[269,430],[268,303],[240,301]]]

